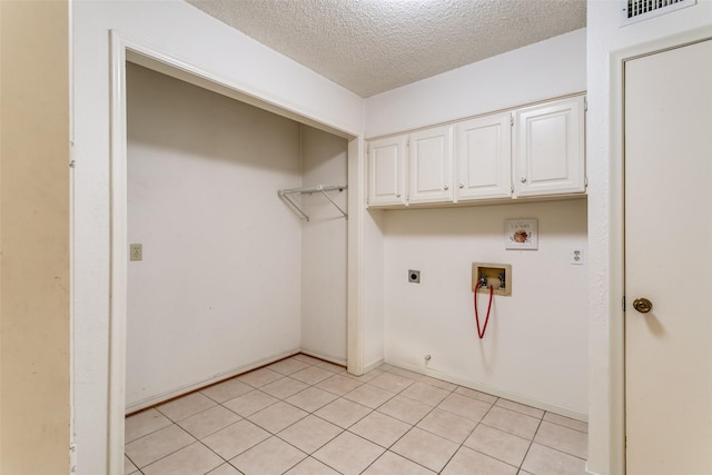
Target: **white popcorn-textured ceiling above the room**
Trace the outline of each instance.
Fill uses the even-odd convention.
[[[187,0],[367,98],[586,26],[586,0]]]

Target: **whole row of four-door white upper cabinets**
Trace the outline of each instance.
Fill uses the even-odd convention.
[[[583,96],[387,137],[368,146],[368,205],[586,192]]]

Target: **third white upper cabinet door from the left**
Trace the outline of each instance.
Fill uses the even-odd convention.
[[[512,116],[500,113],[455,125],[455,198],[512,196]]]

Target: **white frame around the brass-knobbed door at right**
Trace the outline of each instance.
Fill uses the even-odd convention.
[[[609,466],[625,473],[625,62],[640,57],[695,43],[712,37],[702,27],[629,46],[609,55],[610,71],[610,188],[609,317],[610,406],[606,439]],[[627,306],[627,303],[626,303]]]

